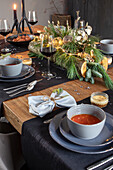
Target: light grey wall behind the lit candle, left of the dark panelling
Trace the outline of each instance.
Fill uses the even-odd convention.
[[[54,2],[54,3],[53,3]],[[21,0],[0,0],[0,18],[7,18],[13,24],[13,4],[17,4],[17,17],[21,19]],[[59,12],[64,13],[65,0],[25,0],[26,15],[29,10],[36,10],[39,25],[47,25],[51,15]]]

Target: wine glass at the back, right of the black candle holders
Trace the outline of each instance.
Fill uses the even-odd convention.
[[[32,30],[34,33],[34,25],[38,22],[37,12],[28,11],[28,23],[32,25]]]

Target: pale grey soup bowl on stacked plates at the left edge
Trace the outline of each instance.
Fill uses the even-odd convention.
[[[6,58],[0,60],[1,74],[6,77],[17,76],[21,73],[22,65],[22,60],[18,58]]]

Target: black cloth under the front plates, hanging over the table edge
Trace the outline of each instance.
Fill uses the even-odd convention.
[[[108,90],[106,93],[110,97],[110,102],[104,110],[113,114],[113,91]],[[89,98],[78,103],[89,103]],[[55,111],[49,116],[53,117],[60,111]],[[43,124],[44,119],[37,117],[24,122],[22,126],[22,151],[29,170],[83,170],[113,154],[113,151],[97,155],[80,154],[61,147],[50,137],[48,125]],[[103,170],[111,163],[98,169]]]

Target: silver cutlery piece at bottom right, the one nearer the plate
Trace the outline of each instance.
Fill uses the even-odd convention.
[[[110,156],[110,157],[107,157],[107,158],[105,158],[105,159],[103,159],[103,160],[101,160],[99,162],[96,162],[95,164],[93,164],[93,165],[91,165],[89,167],[87,167],[87,170],[92,170],[92,169],[98,168],[99,166],[104,165],[105,163],[111,161],[112,159],[113,159],[113,155]]]

